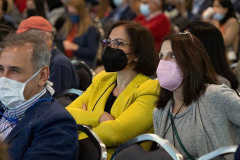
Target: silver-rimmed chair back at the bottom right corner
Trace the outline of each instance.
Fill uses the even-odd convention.
[[[198,158],[198,160],[225,160],[223,155],[230,154],[230,153],[235,153],[237,150],[237,145],[232,145],[232,146],[227,146],[227,147],[221,147],[218,148],[210,153],[207,153],[201,157]]]

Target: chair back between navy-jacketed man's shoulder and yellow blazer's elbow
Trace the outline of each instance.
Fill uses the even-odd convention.
[[[60,94],[56,95],[56,98],[58,101],[64,106],[68,106],[72,101],[74,101],[76,98],[78,98],[80,95],[82,95],[83,91],[78,89],[67,89]]]

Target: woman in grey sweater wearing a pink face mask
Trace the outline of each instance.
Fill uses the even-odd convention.
[[[239,144],[240,98],[226,85],[215,85],[217,74],[200,40],[189,32],[171,35],[159,56],[155,134],[184,159]]]

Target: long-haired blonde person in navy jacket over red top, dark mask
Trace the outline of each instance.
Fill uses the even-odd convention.
[[[66,4],[68,19],[62,31],[63,46],[69,58],[94,66],[100,33],[93,25],[84,1],[71,0]]]

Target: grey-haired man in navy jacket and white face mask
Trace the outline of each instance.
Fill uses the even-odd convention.
[[[31,35],[8,35],[0,52],[0,139],[13,160],[74,160],[77,125],[52,98],[50,54]]]

